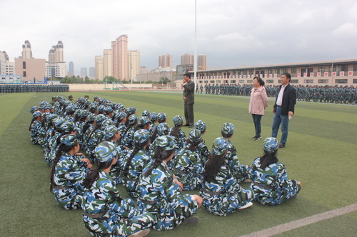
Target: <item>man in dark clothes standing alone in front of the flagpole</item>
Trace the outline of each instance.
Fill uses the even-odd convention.
[[[185,120],[188,127],[193,127],[193,104],[195,102],[195,83],[191,80],[191,75],[186,73],[183,75],[183,100],[185,110]]]

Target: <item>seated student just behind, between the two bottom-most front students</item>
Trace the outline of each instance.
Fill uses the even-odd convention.
[[[131,149],[123,161],[121,182],[128,194],[137,198],[139,196],[139,191],[137,190],[139,177],[146,165],[151,162],[151,157],[146,152],[146,148],[150,145],[149,131],[136,131],[133,140],[134,149]]]

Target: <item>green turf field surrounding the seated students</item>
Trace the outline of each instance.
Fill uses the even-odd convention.
[[[51,96],[74,98],[95,95],[121,102],[126,107],[166,112],[169,125],[183,115],[178,92],[71,92],[0,94],[0,236],[89,236],[81,211],[64,211],[49,192],[49,167],[41,147],[31,144],[29,110]],[[254,125],[248,114],[249,98],[196,95],[195,121],[203,120],[208,147],[220,137],[223,122],[236,127],[232,142],[241,164],[251,164],[262,154],[263,139],[253,142]],[[262,118],[262,135],[271,135],[273,98]],[[188,134],[188,128],[183,131]],[[281,132],[278,133],[278,139]],[[297,102],[290,122],[286,147],[278,158],[286,164],[289,179],[298,179],[302,190],[297,199],[278,206],[254,204],[225,216],[213,216],[202,208],[196,226],[172,231],[153,231],[149,236],[241,236],[279,224],[321,214],[357,203],[357,106]],[[243,187],[248,184],[243,184]],[[198,191],[188,193],[196,194]],[[123,196],[124,189],[121,189]],[[357,211],[296,228],[278,236],[356,236]]]

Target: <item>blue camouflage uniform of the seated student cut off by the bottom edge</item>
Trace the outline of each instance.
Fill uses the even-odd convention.
[[[104,171],[90,189],[85,189],[81,208],[84,226],[92,236],[128,236],[150,228],[154,218],[151,214],[140,214],[134,201],[122,199],[114,181]],[[96,215],[104,214],[99,218]]]

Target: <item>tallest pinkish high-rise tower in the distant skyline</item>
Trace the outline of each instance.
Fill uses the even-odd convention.
[[[128,36],[121,35],[111,41],[112,75],[119,80],[128,79]]]

